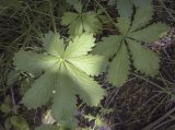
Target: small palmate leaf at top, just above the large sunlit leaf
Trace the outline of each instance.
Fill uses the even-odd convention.
[[[69,27],[70,36],[81,35],[83,32],[96,34],[102,28],[102,23],[94,11],[66,12],[61,17],[61,24]]]

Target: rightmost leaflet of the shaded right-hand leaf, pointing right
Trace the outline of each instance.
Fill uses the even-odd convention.
[[[168,29],[168,26],[166,24],[154,23],[143,29],[129,34],[129,37],[140,42],[152,43],[158,40],[161,34],[163,34],[167,29]]]

